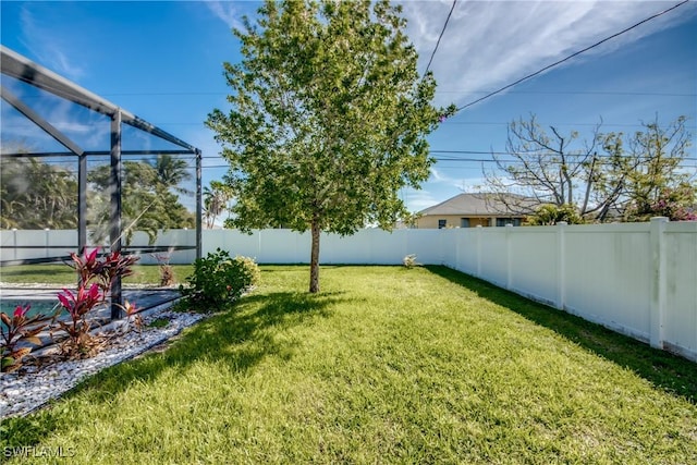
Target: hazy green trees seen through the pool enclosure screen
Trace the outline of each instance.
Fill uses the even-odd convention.
[[[186,161],[158,155],[147,161],[124,161],[122,173],[122,225],[126,242],[134,231],[154,241],[158,230],[195,228],[195,215],[182,205],[181,187],[191,179]],[[110,167],[100,164],[87,175],[87,229],[93,241],[109,234]],[[49,163],[26,155],[0,159],[0,228],[77,228],[77,175],[65,164]]]

